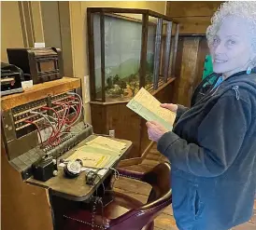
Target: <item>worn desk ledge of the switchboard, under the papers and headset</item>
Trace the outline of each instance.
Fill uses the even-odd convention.
[[[64,154],[64,156],[61,156],[61,158],[67,158],[68,156],[71,156],[72,154],[74,154],[74,152],[79,146],[84,145],[86,142],[92,141],[94,138],[96,138],[96,136],[92,135],[85,139],[83,142],[79,142],[76,147],[69,150],[67,153]],[[121,156],[113,163],[113,167],[115,167],[121,161],[121,159],[128,154],[132,147],[132,142],[125,140],[118,141],[125,142],[126,149],[122,150]],[[109,169],[107,173],[105,173],[105,175],[101,176],[101,180],[98,181],[95,185],[88,185],[85,183],[85,172],[82,172],[75,179],[68,179],[64,177],[63,169],[59,168],[58,175],[56,177],[51,178],[45,183],[36,181],[33,178],[28,179],[26,183],[32,183],[34,185],[39,185],[47,189],[51,189],[52,194],[56,196],[62,196],[64,198],[71,199],[74,201],[83,201],[92,196],[97,187],[101,183],[103,183],[105,179],[107,179],[107,176],[109,176],[110,173],[111,169]]]

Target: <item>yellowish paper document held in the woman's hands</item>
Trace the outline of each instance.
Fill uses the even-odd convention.
[[[145,88],[140,88],[135,97],[126,105],[147,121],[157,121],[166,129],[171,130],[176,113],[164,109],[161,102],[154,98]]]

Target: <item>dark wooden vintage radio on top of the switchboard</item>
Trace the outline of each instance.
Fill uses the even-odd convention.
[[[55,47],[7,48],[8,61],[20,67],[25,80],[34,84],[60,79],[64,75],[62,51]]]

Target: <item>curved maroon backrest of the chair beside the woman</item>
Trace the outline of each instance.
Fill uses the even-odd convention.
[[[171,167],[169,163],[161,163],[146,173],[142,181],[152,186],[147,204],[130,210],[115,220],[111,220],[109,229],[140,230],[172,203]]]

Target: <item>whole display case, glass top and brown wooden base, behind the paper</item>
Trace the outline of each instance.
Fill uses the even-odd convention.
[[[87,16],[93,131],[132,141],[127,159],[139,163],[151,142],[145,120],[126,104],[142,87],[172,101],[178,23],[139,8],[92,7]]]

